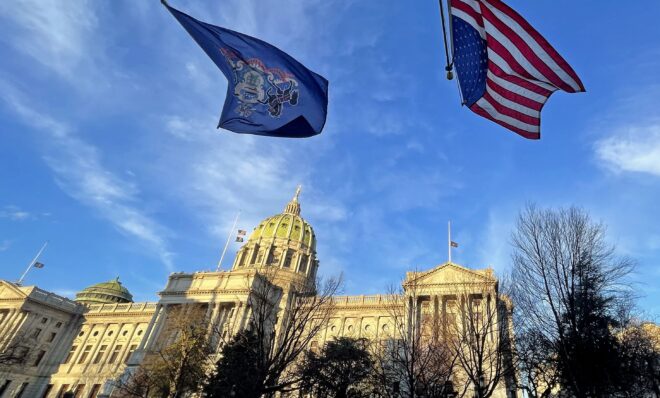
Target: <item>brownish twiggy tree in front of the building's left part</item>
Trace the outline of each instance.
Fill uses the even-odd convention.
[[[204,312],[198,304],[168,310],[156,348],[146,353],[133,374],[118,381],[117,395],[178,398],[199,391],[213,354]]]

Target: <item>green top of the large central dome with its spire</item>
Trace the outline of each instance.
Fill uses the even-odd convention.
[[[300,187],[296,190],[293,199],[286,205],[281,214],[268,217],[252,231],[250,241],[259,239],[281,238],[293,242],[300,242],[312,249],[316,248],[316,237],[312,226],[300,217]]]

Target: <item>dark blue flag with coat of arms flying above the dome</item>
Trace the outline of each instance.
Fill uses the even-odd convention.
[[[262,40],[163,4],[228,80],[218,128],[272,137],[321,132],[328,109],[328,81],[323,76]]]

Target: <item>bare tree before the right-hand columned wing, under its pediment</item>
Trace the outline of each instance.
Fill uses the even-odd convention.
[[[491,284],[468,284],[455,288],[447,302],[445,340],[457,357],[454,379],[460,396],[472,387],[474,397],[488,398],[503,386],[513,384],[512,305]]]

